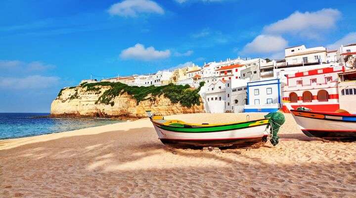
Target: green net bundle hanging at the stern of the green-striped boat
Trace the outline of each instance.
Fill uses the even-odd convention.
[[[269,118],[269,122],[271,126],[271,131],[270,131],[271,139],[269,141],[273,146],[276,146],[279,143],[278,141],[279,128],[285,122],[284,115],[280,112],[272,112],[265,115],[265,118]]]

